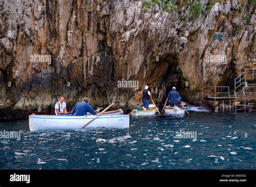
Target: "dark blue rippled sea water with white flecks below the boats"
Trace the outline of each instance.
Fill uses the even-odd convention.
[[[131,117],[125,130],[30,132],[28,120],[0,123],[1,169],[255,169],[255,113],[191,111]],[[197,137],[177,136],[193,132]]]

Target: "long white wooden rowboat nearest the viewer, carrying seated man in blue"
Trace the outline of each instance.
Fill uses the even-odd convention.
[[[52,116],[52,115],[30,115],[30,131],[44,130],[76,130],[82,128],[96,116]],[[129,115],[99,116],[85,128],[129,128]]]

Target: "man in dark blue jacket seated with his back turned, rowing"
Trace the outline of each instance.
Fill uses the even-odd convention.
[[[85,116],[87,112],[90,112],[92,115],[96,115],[94,109],[91,105],[88,104],[88,98],[84,97],[81,102],[78,102],[72,110],[72,116]]]

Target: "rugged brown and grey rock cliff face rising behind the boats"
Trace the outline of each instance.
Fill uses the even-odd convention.
[[[60,95],[126,107],[138,90],[122,80],[198,102],[255,67],[254,1],[4,0],[0,15],[2,116],[49,113]]]

